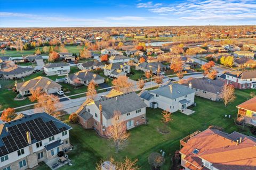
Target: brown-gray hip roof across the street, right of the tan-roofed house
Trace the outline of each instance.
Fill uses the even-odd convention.
[[[80,79],[80,80],[83,80],[83,81],[85,81],[85,80],[91,81],[91,80],[105,79],[105,78],[101,77],[98,74],[95,74],[95,73],[90,72],[90,71],[85,71],[85,70],[78,71],[74,74],[69,74],[68,78],[70,80]]]

